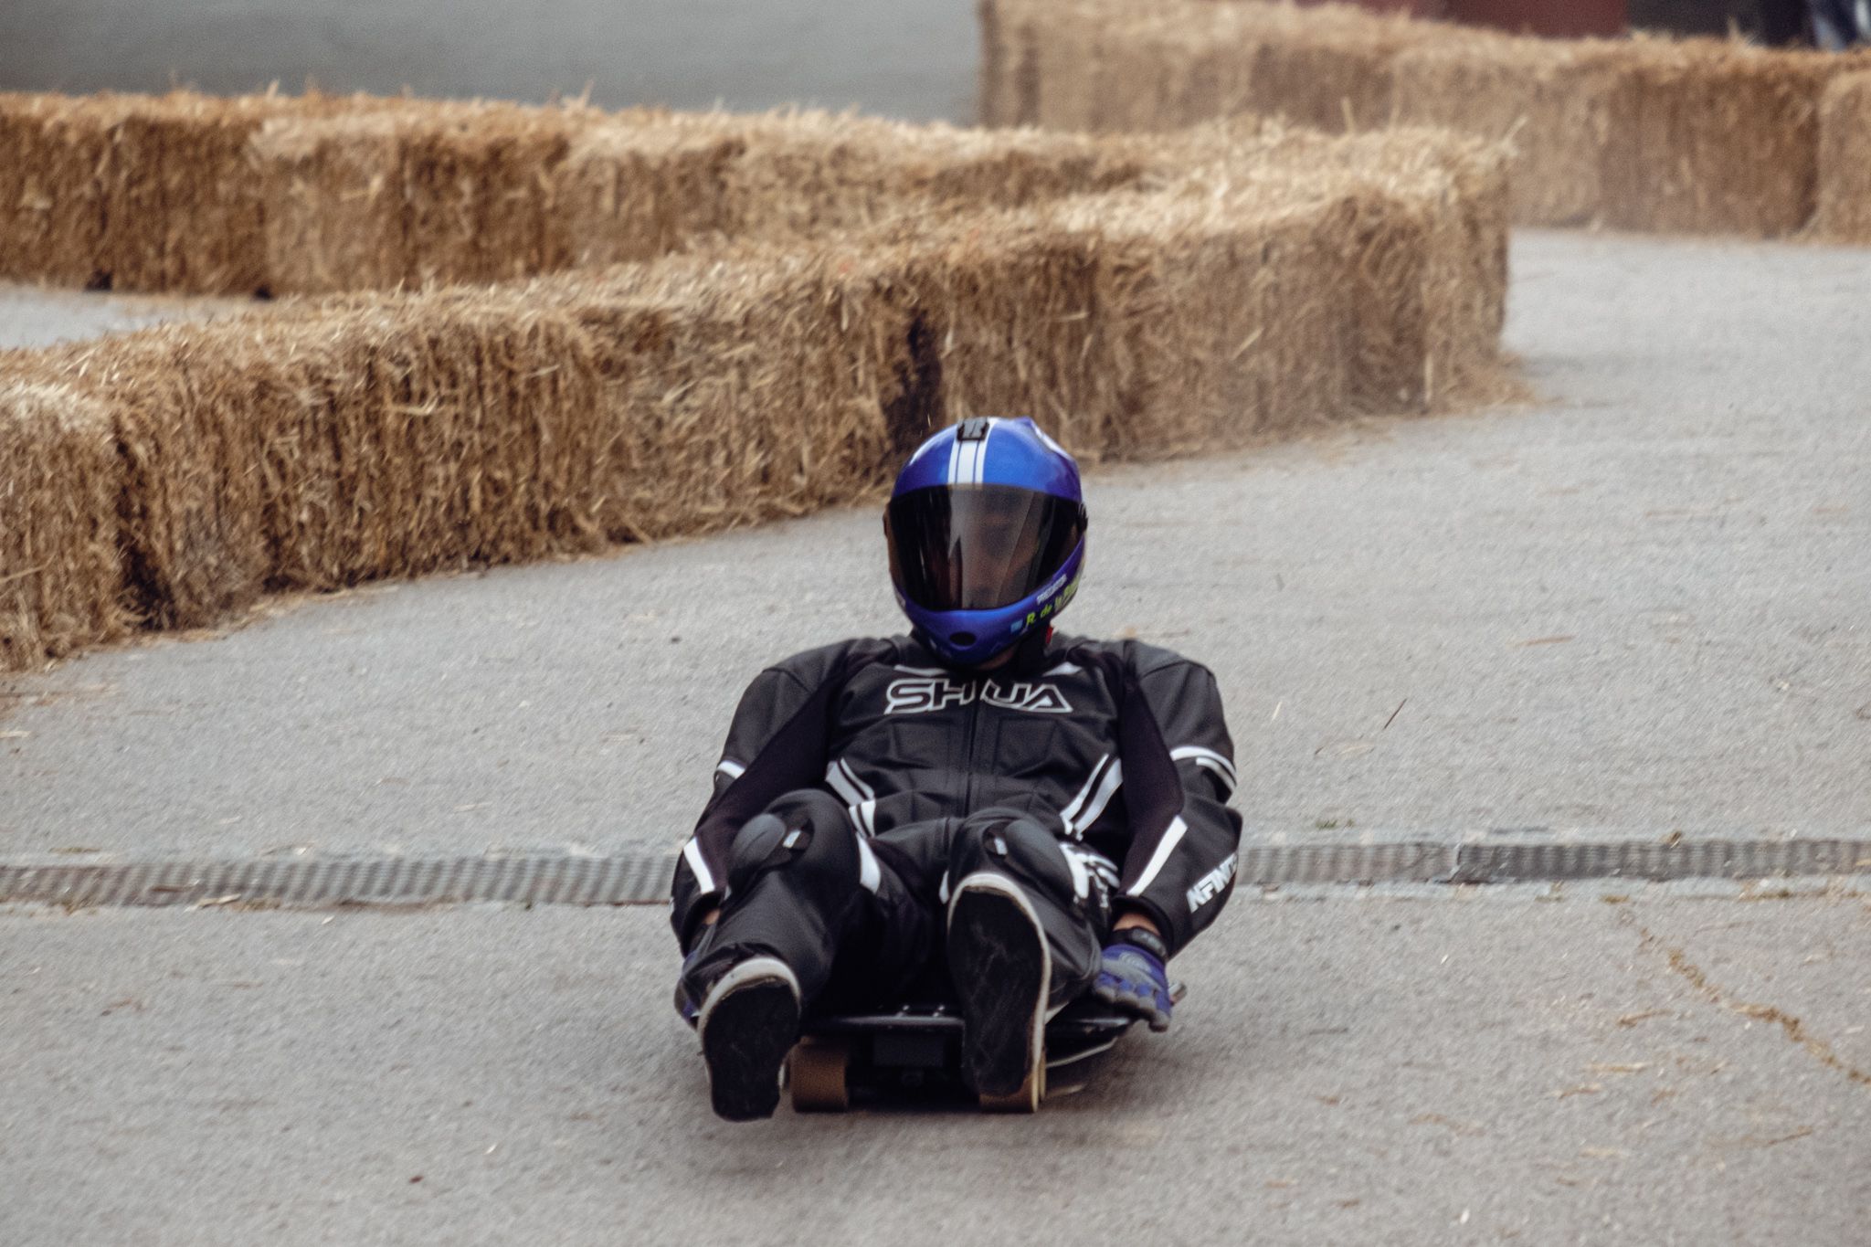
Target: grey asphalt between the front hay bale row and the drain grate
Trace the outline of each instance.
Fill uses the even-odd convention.
[[[1066,623],[1216,669],[1257,838],[1865,834],[1871,252],[1514,271],[1551,402],[1098,471]],[[763,662],[898,626],[868,507],[284,604],[0,684],[0,858],[668,847]]]

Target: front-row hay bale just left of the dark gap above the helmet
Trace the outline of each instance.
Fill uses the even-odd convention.
[[[526,288],[597,342],[612,540],[803,514],[881,480],[909,314],[864,251],[745,249]]]

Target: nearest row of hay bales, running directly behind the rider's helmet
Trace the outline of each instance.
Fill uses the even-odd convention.
[[[11,600],[7,628],[28,639],[6,662],[105,636],[110,602],[191,626],[271,589],[797,514],[881,484],[960,415],[1031,411],[1089,458],[1164,454],[1426,408],[1448,396],[1431,378],[1461,366],[1428,365],[1437,351],[1491,357],[1502,209],[1467,202],[1501,198],[1478,146],[1278,127],[1182,142],[1100,153],[1154,189],[290,303],[22,357],[32,409],[67,404],[109,430],[109,454],[71,490],[90,520],[21,490],[64,488],[65,441],[36,432],[0,458],[26,499],[7,518],[30,533],[0,576],[24,583],[54,546],[79,566],[109,531],[116,587]],[[980,157],[924,153],[911,181],[967,185]],[[1166,172],[1182,161],[1197,172]],[[1458,269],[1484,282],[1482,312],[1450,297]],[[107,606],[62,623],[65,598]]]

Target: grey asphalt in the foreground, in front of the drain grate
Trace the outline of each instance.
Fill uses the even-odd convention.
[[[1871,907],[1486,892],[1242,897],[1037,1118],[743,1127],[651,909],[0,914],[0,1241],[1864,1241]]]

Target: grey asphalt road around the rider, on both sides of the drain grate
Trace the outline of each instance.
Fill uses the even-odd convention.
[[[1259,839],[1871,832],[1871,252],[1514,262],[1551,402],[1100,471],[1068,623],[1214,666]],[[892,626],[853,510],[107,651],[0,684],[0,860],[668,847]],[[1748,897],[1242,896],[1038,1118],[754,1127],[655,907],[15,907],[0,1241],[1862,1243],[1871,905]]]

